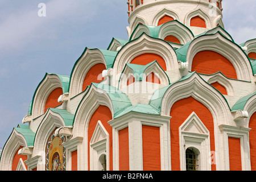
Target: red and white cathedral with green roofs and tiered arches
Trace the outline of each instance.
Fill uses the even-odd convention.
[[[234,42],[221,2],[124,2],[129,40],[46,73],[0,168],[256,170],[256,39]]]

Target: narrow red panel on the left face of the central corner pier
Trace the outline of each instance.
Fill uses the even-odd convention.
[[[129,129],[119,130],[119,170],[129,171]]]

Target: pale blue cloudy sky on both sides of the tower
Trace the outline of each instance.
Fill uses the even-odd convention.
[[[46,3],[46,17],[38,16]],[[225,29],[240,44],[256,38],[255,0],[224,0]],[[70,75],[85,47],[128,39],[126,0],[0,0],[0,147],[22,123],[46,72]]]

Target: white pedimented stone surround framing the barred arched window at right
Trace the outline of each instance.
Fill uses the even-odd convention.
[[[195,147],[200,151],[199,171],[210,171],[210,133],[204,123],[192,112],[191,115],[179,127],[180,143],[180,169],[186,170],[185,151],[187,148]]]

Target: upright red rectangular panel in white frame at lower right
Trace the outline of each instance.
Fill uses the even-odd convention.
[[[240,138],[229,137],[230,171],[242,171]]]

